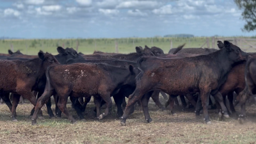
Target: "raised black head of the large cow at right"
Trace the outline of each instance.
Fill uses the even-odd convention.
[[[247,60],[248,54],[243,52],[239,47],[233,45],[232,43],[228,42],[227,40],[224,41],[225,51],[228,52],[228,59],[233,61],[234,63],[239,61]]]

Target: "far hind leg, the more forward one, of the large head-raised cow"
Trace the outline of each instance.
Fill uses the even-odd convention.
[[[148,123],[152,122],[152,118],[150,118],[150,115],[148,113],[148,100],[150,99],[150,96],[152,95],[152,93],[154,92],[148,92],[141,98],[141,106],[143,109],[145,120],[147,120]]]

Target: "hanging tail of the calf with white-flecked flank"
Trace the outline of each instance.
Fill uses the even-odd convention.
[[[42,102],[42,104],[45,104],[46,100],[49,100],[49,98],[51,97],[51,77],[49,74],[49,71],[51,70],[51,67],[47,67],[46,72],[45,72],[45,76],[46,76],[46,84],[45,84],[45,88],[44,88],[44,93],[42,94],[42,96],[40,97],[40,99],[38,99],[38,102]]]

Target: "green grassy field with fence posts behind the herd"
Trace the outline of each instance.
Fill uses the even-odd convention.
[[[35,40],[0,40],[0,53],[7,53],[11,49],[14,51],[20,50],[23,54],[37,54],[42,50],[56,54],[58,46],[73,47],[79,44],[79,52],[92,54],[93,51],[115,52],[115,42],[118,43],[118,51],[120,53],[134,52],[136,46],[148,47],[157,46],[163,49],[165,53],[170,50],[170,41],[172,47],[177,47],[186,43],[184,48],[201,47],[206,42],[206,37],[194,38],[98,38],[98,39],[35,39]],[[256,39],[255,39],[256,40]],[[209,45],[212,47],[211,38]],[[217,44],[214,44],[217,48]],[[207,45],[204,45],[207,47]]]

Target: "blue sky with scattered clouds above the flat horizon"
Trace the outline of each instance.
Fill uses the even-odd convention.
[[[0,0],[0,37],[255,36],[233,0]]]

